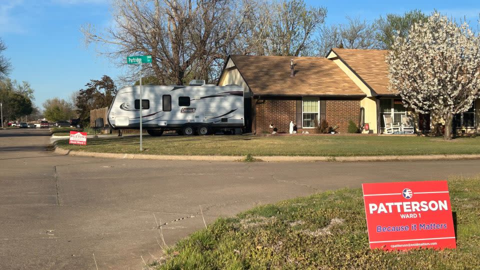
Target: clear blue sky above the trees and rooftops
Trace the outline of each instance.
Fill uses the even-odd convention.
[[[433,9],[455,18],[464,15],[477,26],[477,0],[306,0],[326,6],[326,23],[342,23],[345,16],[373,20],[386,13]],[[47,98],[67,98],[90,79],[103,74],[116,78],[122,70],[86,48],[79,31],[84,23],[97,28],[111,21],[109,0],[0,0],[0,37],[11,59],[12,79],[27,80],[35,89],[35,103]]]

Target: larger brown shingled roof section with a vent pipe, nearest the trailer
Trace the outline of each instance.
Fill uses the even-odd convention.
[[[254,95],[365,96],[331,60],[321,57],[230,55]],[[295,76],[290,77],[293,59]]]

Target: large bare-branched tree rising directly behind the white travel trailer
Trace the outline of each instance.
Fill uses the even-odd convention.
[[[252,5],[249,0],[115,0],[114,25],[97,32],[86,24],[81,31],[86,44],[98,45],[98,53],[120,66],[128,55],[152,55],[145,73],[161,84],[216,79],[211,67],[241,35]]]

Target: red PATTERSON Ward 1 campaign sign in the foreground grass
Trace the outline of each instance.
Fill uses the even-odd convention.
[[[446,181],[363,183],[370,248],[455,248]]]

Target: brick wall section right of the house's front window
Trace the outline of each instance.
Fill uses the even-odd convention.
[[[348,133],[348,121],[358,124],[360,100],[326,100],[326,120],[331,126],[338,126],[339,133]]]

